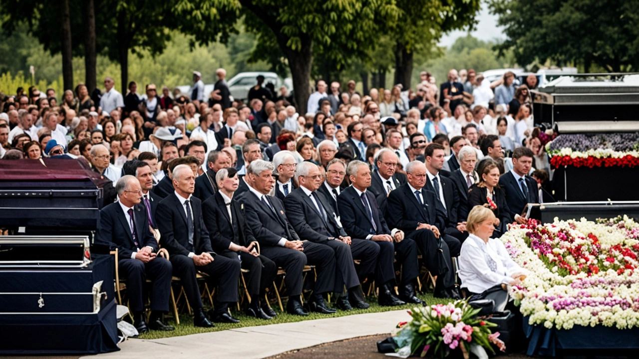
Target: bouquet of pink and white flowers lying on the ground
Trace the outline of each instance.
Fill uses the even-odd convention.
[[[482,357],[486,356],[484,348],[495,353],[491,344],[505,351],[504,342],[497,338],[499,333],[493,334],[490,330],[497,325],[477,317],[479,311],[463,300],[414,308],[408,312],[412,321],[398,325],[401,330],[396,336],[397,345],[410,348],[410,355],[422,357],[431,351],[445,358],[455,349],[459,349],[464,358],[471,352]]]

